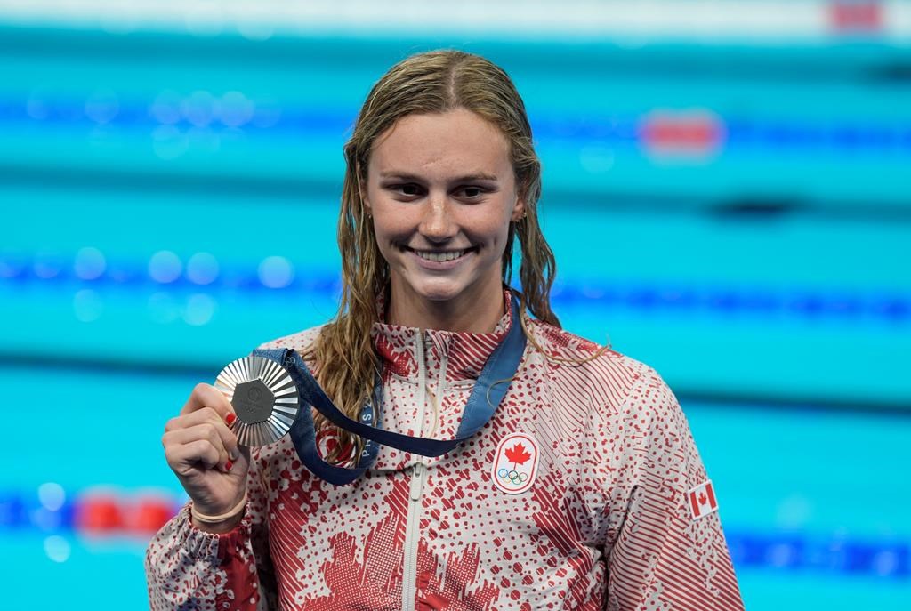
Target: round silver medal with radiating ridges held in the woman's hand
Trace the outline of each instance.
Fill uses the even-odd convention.
[[[241,445],[266,445],[291,429],[299,409],[297,386],[279,363],[246,356],[228,363],[215,380],[234,407],[230,430]]]

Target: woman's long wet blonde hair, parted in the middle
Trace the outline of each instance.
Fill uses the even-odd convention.
[[[513,292],[523,312],[523,330],[528,335],[526,309],[538,320],[559,327],[558,318],[550,309],[556,262],[537,217],[541,164],[532,144],[525,104],[516,87],[506,72],[480,56],[453,50],[410,56],[376,82],[344,146],[347,168],[338,221],[342,296],[335,318],[325,324],[319,338],[303,355],[321,365],[317,373],[320,385],[350,418],[357,418],[371,396],[379,372],[371,330],[378,321],[377,298],[389,282],[389,269],[376,246],[372,220],[360,191],[362,182],[366,182],[371,150],[377,137],[402,117],[444,113],[455,108],[466,108],[483,117],[507,138],[517,194],[525,202],[525,216],[509,225],[503,280],[506,284],[511,280],[513,245],[517,239],[522,292]],[[333,427],[320,415],[316,422],[318,428]],[[356,436],[343,430],[338,433],[341,442],[338,448],[360,447]],[[330,459],[337,457],[338,451]]]

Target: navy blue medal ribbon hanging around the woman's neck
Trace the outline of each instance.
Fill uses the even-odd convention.
[[[507,393],[509,382],[512,382],[513,376],[516,375],[518,364],[525,352],[525,333],[522,332],[518,301],[515,297],[510,300],[510,306],[512,324],[509,332],[490,354],[478,375],[475,387],[468,395],[462,423],[459,425],[455,439],[427,439],[381,429],[379,411],[383,405],[383,383],[379,378],[374,384],[372,397],[376,413],[374,414],[374,410],[368,403],[363,406],[358,420],[352,420],[335,407],[326,393],[322,391],[297,351],[290,348],[256,350],[253,351],[253,355],[279,362],[297,385],[301,396],[301,411],[298,412],[298,416],[292,424],[291,438],[302,462],[313,474],[331,484],[351,484],[373,465],[380,444],[422,456],[442,456],[477,433],[493,417],[496,407]],[[327,420],[339,428],[363,437],[365,443],[363,451],[358,457],[357,466],[340,467],[322,460],[316,448],[316,430],[313,425],[312,412],[308,406],[316,408]]]

